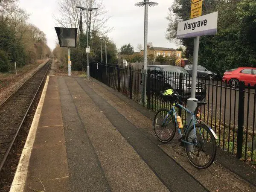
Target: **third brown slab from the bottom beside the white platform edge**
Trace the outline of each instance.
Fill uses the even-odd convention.
[[[64,143],[63,126],[39,127],[33,147],[59,145]]]

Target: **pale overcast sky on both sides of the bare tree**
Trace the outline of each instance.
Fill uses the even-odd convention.
[[[124,44],[131,43],[136,51],[137,44],[143,44],[144,32],[144,8],[134,6],[142,0],[103,0],[111,16],[108,21],[109,27],[114,29],[108,36],[120,48]],[[20,0],[20,7],[25,9],[31,16],[29,23],[41,29],[47,36],[47,44],[54,49],[57,35],[54,27],[53,15],[58,15],[58,0]],[[177,45],[170,43],[165,38],[168,21],[168,8],[173,0],[154,0],[159,3],[156,7],[149,7],[148,10],[148,42],[154,47],[177,48]]]

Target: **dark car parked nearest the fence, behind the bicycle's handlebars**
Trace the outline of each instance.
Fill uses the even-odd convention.
[[[188,99],[190,97],[192,81],[189,73],[183,67],[171,65],[150,65],[147,67],[147,69],[149,70],[150,74],[150,82],[147,82],[147,90],[149,88],[149,85],[150,90],[156,93],[160,93],[160,91],[165,91],[169,87],[172,87],[174,90],[177,91],[177,93],[183,96],[183,99]],[[169,75],[170,73],[172,75]],[[179,89],[180,73],[183,73],[183,75],[187,75],[187,78],[183,79],[181,90]],[[202,101],[205,98],[205,95],[205,85],[197,82],[195,98]]]

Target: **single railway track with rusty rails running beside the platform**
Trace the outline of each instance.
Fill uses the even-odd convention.
[[[0,105],[0,183],[20,128],[51,64],[52,59]]]

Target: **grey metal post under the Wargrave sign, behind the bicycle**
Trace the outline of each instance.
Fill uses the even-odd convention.
[[[187,100],[187,108],[190,111],[195,111],[195,108],[197,106],[197,104],[195,102],[193,102],[193,100],[197,100],[195,99],[195,88],[196,88],[196,75],[197,75],[197,66],[198,66],[198,49],[199,49],[199,37],[195,37],[194,39],[194,54],[193,54],[193,70],[192,70],[192,84],[191,84],[191,96],[190,98]],[[189,79],[190,81],[190,79]],[[191,114],[188,114],[186,117],[186,122],[189,123],[190,119],[191,119]]]

